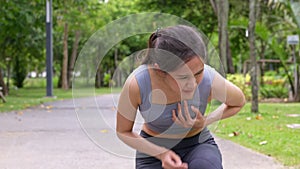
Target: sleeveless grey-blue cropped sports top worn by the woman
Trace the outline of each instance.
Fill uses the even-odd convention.
[[[187,100],[189,113],[191,117],[195,117],[195,113],[191,110],[191,105],[198,108],[202,114],[205,113],[207,100],[210,94],[212,80],[214,78],[215,70],[208,65],[204,66],[203,79],[198,84],[194,93],[193,99]],[[175,124],[172,120],[172,110],[177,112],[177,104],[157,104],[152,103],[152,87],[151,79],[147,65],[139,66],[134,72],[135,78],[140,89],[141,104],[139,111],[145,120],[147,127],[155,132],[163,134],[181,134],[187,133],[190,128],[184,128]],[[181,103],[183,109],[183,101]],[[184,112],[184,110],[182,110]],[[205,141],[210,137],[210,132],[207,128],[202,130],[200,139]]]

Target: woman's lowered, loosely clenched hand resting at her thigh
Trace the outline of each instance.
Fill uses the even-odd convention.
[[[187,169],[187,163],[183,163],[180,157],[173,151],[168,150],[161,154],[160,160],[164,169]]]

